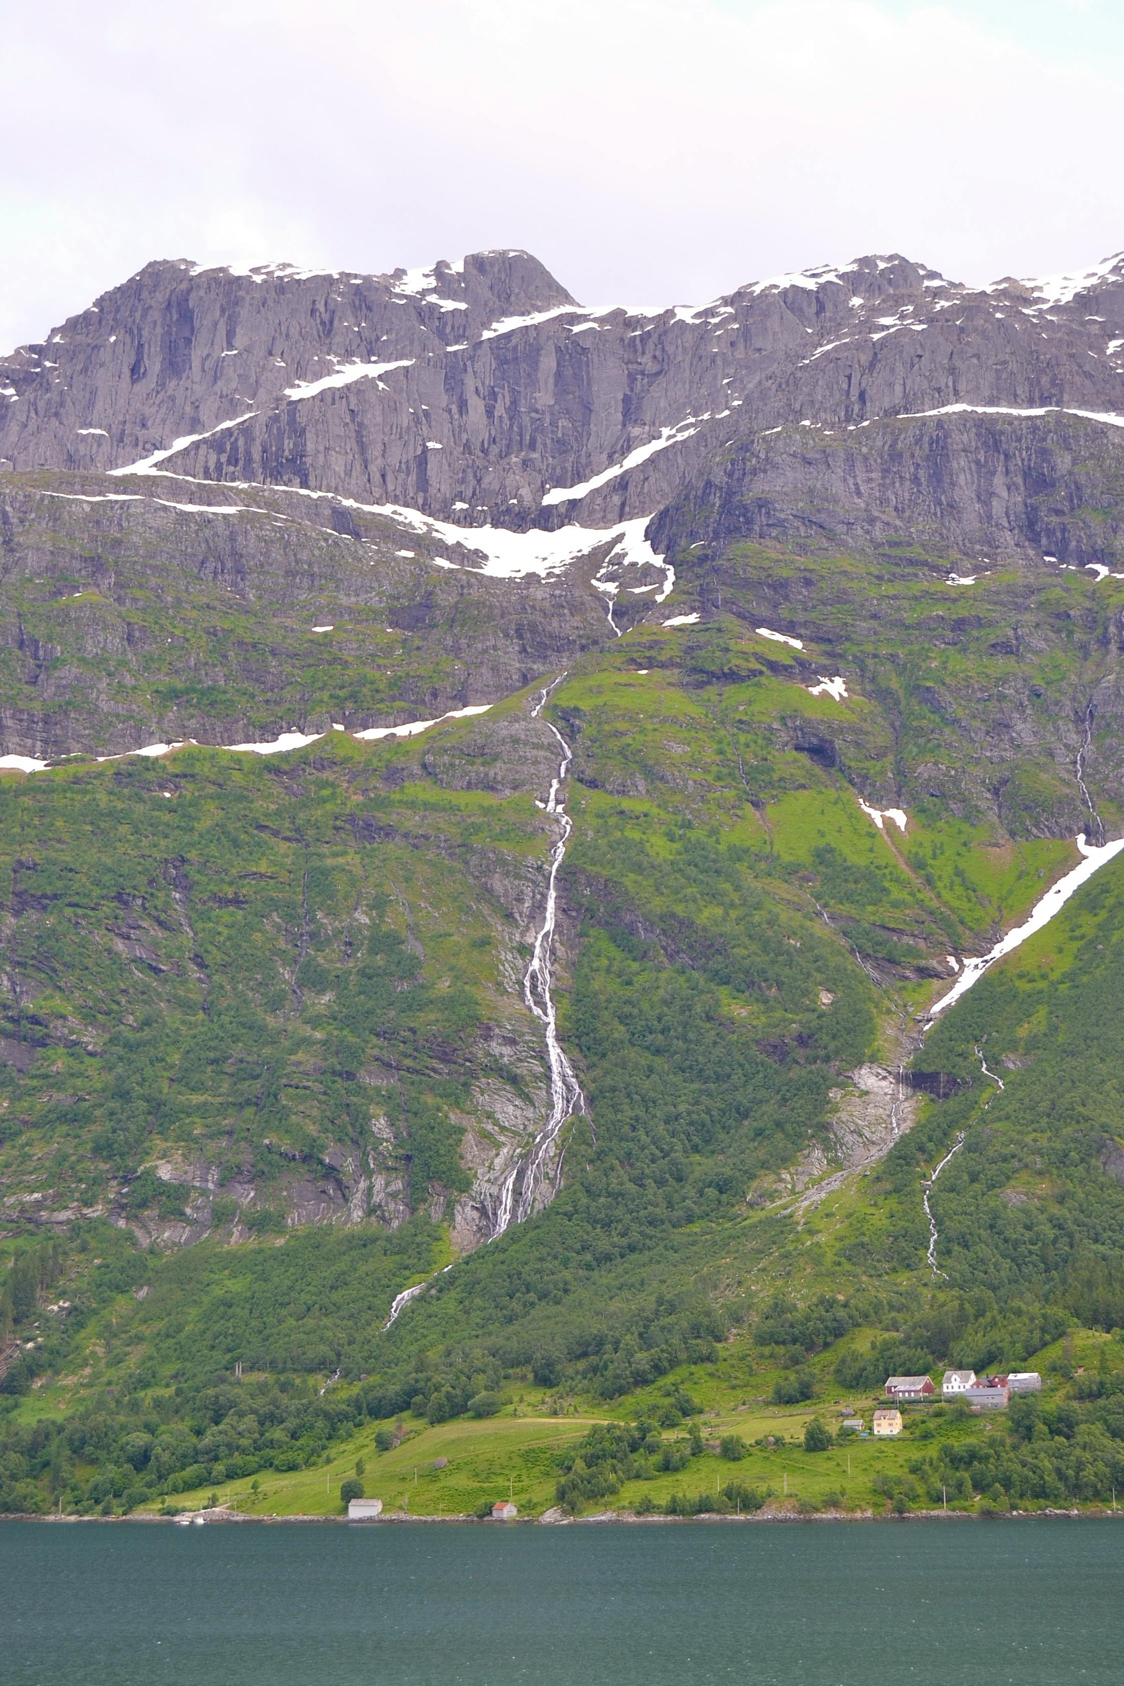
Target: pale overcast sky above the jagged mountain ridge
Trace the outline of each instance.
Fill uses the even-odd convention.
[[[0,349],[150,258],[585,303],[1124,248],[1124,0],[2,0]]]

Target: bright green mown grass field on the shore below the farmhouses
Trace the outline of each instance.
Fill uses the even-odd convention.
[[[832,1381],[831,1367],[844,1345],[866,1344],[873,1332],[854,1330],[844,1342],[812,1361],[817,1396],[797,1406],[768,1403],[772,1384],[784,1374],[777,1367],[753,1367],[748,1342],[738,1339],[723,1347],[716,1364],[684,1366],[650,1388],[639,1389],[613,1406],[583,1401],[553,1401],[544,1389],[521,1388],[516,1403],[484,1421],[457,1420],[430,1426],[406,1413],[398,1423],[401,1443],[379,1453],[371,1423],[362,1433],[332,1448],[315,1469],[280,1474],[273,1470],[251,1480],[233,1480],[217,1487],[199,1487],[177,1494],[167,1507],[206,1509],[212,1497],[221,1506],[254,1517],[342,1516],[342,1482],[356,1477],[362,1462],[364,1494],[381,1499],[388,1516],[440,1517],[475,1512],[482,1504],[512,1499],[522,1517],[541,1516],[556,1504],[559,1479],[558,1457],[575,1450],[595,1423],[635,1420],[652,1413],[674,1388],[686,1389],[701,1406],[698,1421],[708,1450],[693,1457],[684,1470],[664,1472],[650,1480],[629,1480],[612,1499],[585,1511],[632,1512],[644,1501],[662,1507],[672,1492],[694,1497],[718,1494],[728,1482],[740,1482],[762,1494],[772,1494],[768,1509],[841,1509],[848,1512],[883,1512],[886,1499],[875,1487],[878,1477],[902,1477],[920,1455],[932,1455],[942,1443],[1001,1435],[1003,1416],[994,1420],[947,1411],[939,1401],[907,1406],[905,1428],[898,1438],[844,1436],[824,1452],[804,1450],[804,1430],[819,1418],[832,1435],[849,1406],[870,1431],[880,1394],[846,1393]],[[1068,1337],[1067,1352],[1080,1369],[1094,1369],[1105,1345],[1104,1335],[1084,1332]],[[1063,1342],[1055,1342],[1036,1359],[1043,1371],[1062,1359]],[[1046,1391],[1046,1396],[1050,1388]],[[556,1404],[563,1415],[546,1415]],[[723,1435],[740,1435],[747,1453],[738,1460],[721,1457],[713,1443]],[[688,1435],[688,1425],[662,1431],[666,1443]],[[755,1445],[767,1440],[777,1445]],[[436,1469],[436,1460],[448,1460]],[[950,1502],[950,1509],[976,1511],[976,1501]],[[1030,1507],[1030,1506],[1028,1506]],[[163,1506],[145,1509],[158,1512]]]

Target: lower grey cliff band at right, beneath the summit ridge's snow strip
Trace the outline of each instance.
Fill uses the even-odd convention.
[[[908,546],[966,558],[966,572],[1043,555],[1119,566],[1122,454],[1124,427],[1068,411],[785,427],[716,457],[656,519],[652,541],[677,553],[738,540]]]

